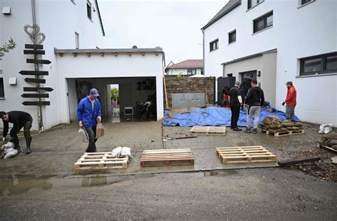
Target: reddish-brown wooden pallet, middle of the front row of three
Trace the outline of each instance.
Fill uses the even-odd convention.
[[[151,149],[141,155],[141,166],[181,166],[193,165],[191,149]]]

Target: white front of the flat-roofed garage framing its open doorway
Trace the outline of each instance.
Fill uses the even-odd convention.
[[[63,57],[57,56],[59,87],[65,88],[64,93],[60,94],[61,98],[66,98],[67,86],[63,79],[76,78],[125,78],[125,77],[155,77],[156,78],[156,97],[157,97],[157,120],[164,118],[164,101],[163,101],[163,57],[162,54],[155,55],[154,53],[128,54],[119,53],[116,57],[114,54],[106,53],[104,57],[100,53],[92,53],[90,57],[86,54],[64,54]],[[104,87],[107,84],[132,84],[129,79],[109,79],[107,81],[95,82],[97,86]],[[135,83],[136,81],[134,81]],[[93,84],[92,86],[95,86]],[[136,87],[136,84],[134,84]],[[132,90],[136,93],[136,90]],[[137,94],[133,94],[132,103],[135,105]],[[143,97],[143,96],[141,96]],[[121,98],[122,99],[122,98]],[[62,99],[63,100],[63,99]],[[144,101],[143,101],[144,102]],[[60,103],[61,120],[68,122],[68,101]]]

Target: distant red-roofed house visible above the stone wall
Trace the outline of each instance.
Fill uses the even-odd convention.
[[[183,62],[179,62],[174,64],[170,62],[169,66],[166,67],[165,72],[167,75],[178,75],[178,74],[203,74],[203,60],[186,60]]]

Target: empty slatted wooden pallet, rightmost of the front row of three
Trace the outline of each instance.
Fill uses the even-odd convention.
[[[218,147],[216,153],[224,164],[276,162],[276,156],[262,146]]]

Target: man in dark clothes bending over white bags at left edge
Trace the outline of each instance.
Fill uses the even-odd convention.
[[[26,138],[26,154],[31,153],[31,124],[33,123],[33,118],[29,113],[23,111],[10,111],[9,113],[0,112],[1,119],[4,123],[4,137],[6,139],[7,133],[9,132],[9,123],[13,123],[13,128],[11,128],[11,142],[14,142],[14,149],[17,149],[19,153],[22,153],[22,149],[18,143],[17,133],[23,128],[23,135]]]

